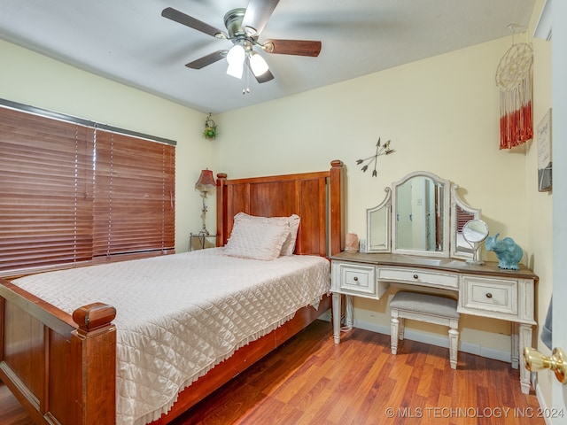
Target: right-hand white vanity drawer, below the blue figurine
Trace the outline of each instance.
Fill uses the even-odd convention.
[[[462,311],[517,315],[517,280],[462,276],[460,304]]]

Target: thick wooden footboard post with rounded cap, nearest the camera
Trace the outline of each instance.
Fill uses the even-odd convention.
[[[73,312],[79,328],[73,332],[71,349],[81,373],[74,383],[78,399],[76,423],[97,425],[116,421],[116,328],[111,323],[116,309],[95,303]]]

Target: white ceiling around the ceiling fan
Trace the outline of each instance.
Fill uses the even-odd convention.
[[[225,29],[224,14],[248,0],[0,0],[0,38],[220,113],[509,36],[510,24],[528,26],[535,1],[280,0],[260,42],[320,40],[322,50],[317,58],[262,53],[275,76],[263,84],[227,75],[224,59],[186,67],[232,43],[161,16],[173,7]]]

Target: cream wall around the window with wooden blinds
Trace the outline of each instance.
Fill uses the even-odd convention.
[[[109,81],[0,41],[0,97],[177,142],[175,248],[187,251],[201,228],[201,197],[193,184],[202,168],[216,169],[217,147],[201,137],[200,112]],[[213,198],[214,199],[214,198]],[[214,228],[215,205],[207,223]]]

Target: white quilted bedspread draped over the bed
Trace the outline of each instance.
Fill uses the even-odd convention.
[[[158,419],[178,392],[330,290],[326,259],[235,259],[223,250],[35,274],[13,283],[66,313],[93,302],[116,307],[116,423],[138,425]]]

